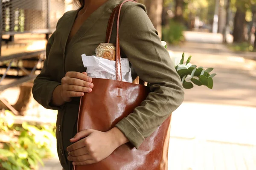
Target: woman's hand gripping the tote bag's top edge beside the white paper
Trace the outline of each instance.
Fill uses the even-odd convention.
[[[72,97],[84,96],[90,93],[93,88],[93,79],[87,76],[86,72],[67,72],[61,79],[61,85],[55,88],[52,94],[52,104],[56,106],[70,102]]]

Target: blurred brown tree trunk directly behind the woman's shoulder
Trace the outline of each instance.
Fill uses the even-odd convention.
[[[156,28],[159,37],[162,37],[163,0],[146,0],[145,6],[147,8],[148,17]]]

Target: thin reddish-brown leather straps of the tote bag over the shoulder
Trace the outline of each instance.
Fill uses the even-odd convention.
[[[108,28],[107,28],[107,34],[106,34],[106,42],[110,43],[114,20],[115,20],[116,14],[118,13],[117,29],[116,29],[116,80],[119,80],[119,81],[122,81],[121,53],[120,53],[120,44],[119,44],[119,19],[120,19],[122,6],[124,5],[124,3],[129,1],[134,3],[136,2],[134,0],[125,0],[124,2],[122,2],[121,4],[119,4],[113,9],[113,12],[108,22]],[[142,79],[140,79],[139,83],[141,85],[145,85],[145,82]]]

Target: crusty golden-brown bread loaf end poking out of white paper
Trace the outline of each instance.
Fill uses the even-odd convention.
[[[96,48],[96,57],[102,57],[112,61],[116,61],[116,47],[111,43],[101,43]]]

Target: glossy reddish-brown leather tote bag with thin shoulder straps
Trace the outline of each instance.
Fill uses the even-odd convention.
[[[110,18],[106,41],[110,42],[113,21],[117,17],[116,80],[93,78],[93,91],[81,97],[78,132],[85,129],[108,131],[133,112],[146,99],[149,88],[141,84],[122,82],[119,47],[119,17],[125,0],[117,6]],[[117,15],[116,15],[117,14]],[[74,170],[167,170],[169,126],[166,119],[137,150],[131,143],[118,147],[108,158],[89,165],[74,166]]]

